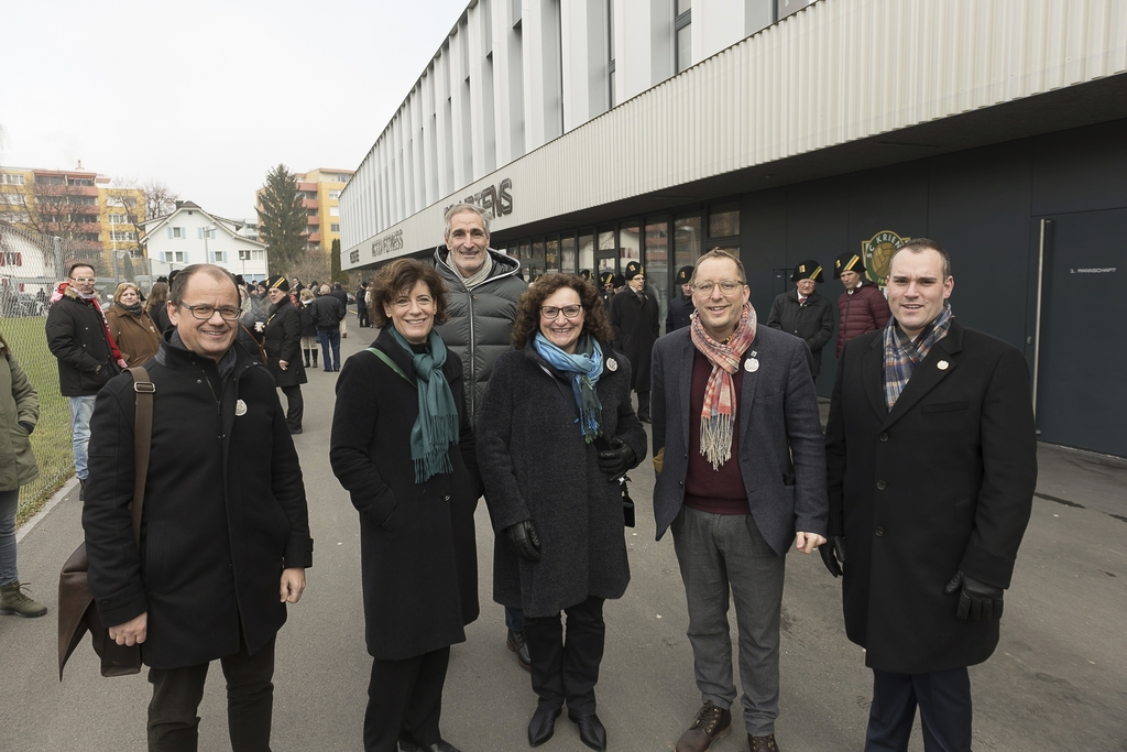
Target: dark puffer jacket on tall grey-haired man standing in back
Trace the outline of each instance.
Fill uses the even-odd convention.
[[[513,348],[516,304],[529,285],[516,275],[521,262],[490,248],[492,273],[472,291],[467,290],[462,275],[447,262],[449,257],[445,246],[435,248],[434,265],[450,289],[446,307],[450,320],[437,329],[446,346],[462,359],[467,407],[470,421],[477,424],[492,365],[502,353]]]

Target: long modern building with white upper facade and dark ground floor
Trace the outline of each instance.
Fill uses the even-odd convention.
[[[930,237],[960,319],[1026,352],[1041,437],[1127,457],[1127,350],[1074,324],[1117,320],[1127,273],[1127,0],[472,0],[451,23],[340,195],[343,268],[429,257],[471,201],[526,276],[640,259],[665,298],[721,247],[765,316],[800,260],[862,253],[879,282]]]

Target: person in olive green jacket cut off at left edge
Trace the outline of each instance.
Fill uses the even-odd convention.
[[[39,477],[30,435],[39,396],[0,336],[0,616],[42,617],[47,607],[23,592],[16,570],[19,487]]]

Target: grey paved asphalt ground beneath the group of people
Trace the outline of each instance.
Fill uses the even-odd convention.
[[[373,331],[353,326],[341,343],[345,356],[366,346]],[[305,433],[296,443],[314,566],[278,638],[276,752],[360,750],[370,667],[356,516],[327,457],[336,377],[313,371],[309,378]],[[970,672],[975,747],[1127,750],[1127,462],[1051,448],[1041,448],[1039,461],[1038,498],[1006,594],[1002,643]],[[700,697],[673,545],[654,541],[648,459],[631,475],[638,502],[638,528],[627,531],[633,580],[624,598],[606,604],[598,714],[610,750],[662,752],[673,750]],[[453,649],[443,732],[464,752],[525,750],[535,698],[505,648],[504,617],[492,603],[492,532],[483,504],[477,525],[482,612]],[[23,533],[21,580],[51,612],[0,617],[0,752],[145,749],[145,673],[101,679],[83,643],[59,682],[55,587],[60,566],[81,540],[76,489]],[[789,556],[782,628],[781,749],[861,749],[870,673],[862,651],[845,638],[838,582],[817,555]],[[230,749],[221,673],[213,666],[201,706],[201,750]],[[541,749],[586,750],[566,717]],[[919,731],[911,749],[922,749]],[[745,736],[734,733],[713,750],[746,750]]]

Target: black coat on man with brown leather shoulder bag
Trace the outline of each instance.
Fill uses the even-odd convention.
[[[105,625],[149,613],[144,662],[198,665],[252,654],[285,622],[284,567],[312,565],[313,540],[298,452],[274,379],[241,347],[220,381],[214,361],[165,342],[147,363],[152,450],[133,542],[133,377],[98,393],[82,527],[90,592]],[[245,408],[245,409],[243,409]]]

